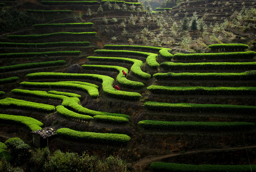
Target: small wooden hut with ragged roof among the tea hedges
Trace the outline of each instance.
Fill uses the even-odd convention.
[[[51,139],[56,136],[56,131],[48,127],[31,132],[33,134],[33,146],[37,148],[48,147]]]

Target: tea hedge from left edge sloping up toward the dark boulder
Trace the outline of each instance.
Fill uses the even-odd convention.
[[[29,68],[36,68],[36,67],[44,67],[44,66],[60,66],[65,64],[66,64],[66,61],[64,60],[39,62],[39,63],[25,63],[20,65],[0,67],[0,72],[8,72],[13,70],[22,70],[22,69],[29,69]]]

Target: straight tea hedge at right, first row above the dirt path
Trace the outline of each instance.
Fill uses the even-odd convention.
[[[140,121],[138,125],[144,129],[161,130],[201,130],[201,131],[227,131],[252,129],[252,122],[193,122],[193,121]]]

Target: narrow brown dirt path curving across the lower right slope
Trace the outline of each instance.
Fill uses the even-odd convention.
[[[252,146],[246,146],[247,149],[250,148],[256,148],[256,145]],[[218,148],[218,149],[195,149],[191,151],[187,151],[184,154],[190,154],[190,153],[198,153],[198,152],[214,152],[214,151],[227,151],[227,150],[239,150],[239,149],[245,149],[245,146],[237,146],[237,147],[228,147],[228,148]],[[152,162],[158,162],[161,161],[164,158],[169,158],[172,156],[178,156],[180,155],[180,152],[177,153],[172,153],[168,155],[162,155],[162,156],[154,156],[154,157],[145,157],[141,159],[140,161],[136,162],[133,165],[134,170],[137,171],[142,171],[142,169],[145,169],[147,166],[150,166]]]

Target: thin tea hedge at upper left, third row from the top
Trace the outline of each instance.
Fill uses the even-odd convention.
[[[41,1],[42,2],[42,1]],[[56,1],[52,1],[56,2]],[[67,2],[67,1],[59,1],[59,2]],[[80,1],[83,2],[83,1]],[[41,28],[55,28],[55,27],[93,27],[93,23],[52,23],[52,24],[37,24],[33,25],[32,27],[35,27],[36,29],[41,29]],[[67,42],[68,43],[68,42]],[[73,42],[73,43],[78,43],[79,42]],[[90,42],[84,42],[88,46],[88,43]]]

